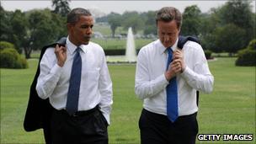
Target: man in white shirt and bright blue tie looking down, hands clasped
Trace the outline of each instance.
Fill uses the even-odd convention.
[[[156,21],[159,40],[141,48],[136,64],[135,91],[144,108],[141,144],[193,144],[198,133],[196,91],[211,93],[214,77],[199,44],[188,41],[182,50],[177,47],[182,24],[177,8],[161,8]],[[168,92],[171,81],[175,86]],[[176,96],[168,94],[175,88]],[[168,97],[177,99],[177,108],[170,109],[176,112],[174,118],[168,112]]]

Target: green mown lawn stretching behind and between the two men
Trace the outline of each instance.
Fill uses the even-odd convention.
[[[253,134],[255,141],[255,67],[235,67],[235,59],[209,61],[215,85],[213,93],[200,93],[200,133]],[[41,130],[25,132],[23,129],[29,85],[35,75],[36,65],[37,60],[30,59],[29,69],[1,69],[0,143],[44,143]],[[109,143],[140,143],[137,122],[141,113],[141,100],[134,93],[135,65],[109,65],[109,72],[114,86]]]

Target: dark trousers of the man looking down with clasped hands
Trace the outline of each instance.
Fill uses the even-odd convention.
[[[142,109],[139,120],[141,144],[195,144],[196,113],[180,116],[174,123],[166,115]]]

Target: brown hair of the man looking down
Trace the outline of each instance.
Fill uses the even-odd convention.
[[[160,10],[158,10],[156,15],[156,22],[170,22],[173,20],[176,21],[178,29],[180,29],[182,24],[182,14],[179,12],[177,8],[163,7]]]

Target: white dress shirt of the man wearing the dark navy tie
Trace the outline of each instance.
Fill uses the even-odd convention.
[[[40,61],[40,76],[36,90],[41,99],[50,98],[55,109],[66,109],[67,91],[76,45],[67,38],[67,60],[57,65],[54,48],[48,48]],[[93,109],[97,104],[109,123],[112,101],[112,82],[102,47],[93,42],[79,46],[82,58],[78,111]]]

